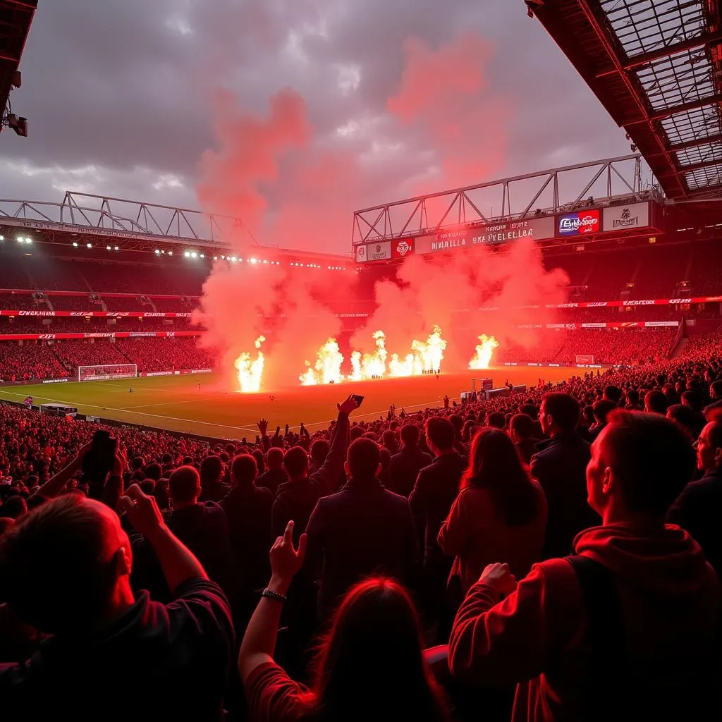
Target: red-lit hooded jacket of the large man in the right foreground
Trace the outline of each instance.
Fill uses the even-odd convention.
[[[613,575],[623,619],[620,666],[642,679],[664,675],[662,703],[684,718],[709,718],[705,682],[720,625],[720,585],[697,542],[667,525],[648,531],[610,524],[575,539],[577,554]],[[590,680],[588,621],[578,578],[565,559],[534,565],[516,591],[498,601],[477,582],[454,622],[449,665],[476,684],[517,684],[513,720],[551,722],[591,716],[596,694],[614,694]],[[600,692],[601,687],[601,692]],[[660,700],[648,700],[650,704]],[[644,700],[643,700],[644,702]],[[619,718],[625,718],[620,700]]]

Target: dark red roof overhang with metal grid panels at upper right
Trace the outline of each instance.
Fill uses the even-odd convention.
[[[525,1],[669,199],[722,196],[719,0]]]

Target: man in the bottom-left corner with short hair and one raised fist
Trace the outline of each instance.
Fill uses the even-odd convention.
[[[152,497],[133,485],[123,506],[155,549],[170,604],[134,596],[130,541],[102,503],[65,495],[2,536],[4,599],[23,622],[52,635],[32,661],[1,668],[4,720],[222,720],[234,648],[225,596]],[[129,670],[142,698],[119,693]]]

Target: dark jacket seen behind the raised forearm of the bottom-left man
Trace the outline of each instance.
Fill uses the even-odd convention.
[[[222,508],[209,501],[184,509],[165,510],[162,514],[168,529],[195,554],[209,579],[217,583],[229,599],[235,599],[238,583],[228,522]],[[134,588],[147,589],[153,599],[168,603],[173,596],[152,546],[141,534],[131,532],[130,536]]]

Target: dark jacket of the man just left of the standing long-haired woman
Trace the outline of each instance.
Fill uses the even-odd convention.
[[[444,558],[436,539],[458,495],[458,486],[468,463],[464,456],[453,452],[435,458],[419,471],[414,490],[409,495],[409,505],[419,538],[423,539],[425,564]],[[448,560],[450,568],[451,561]]]

